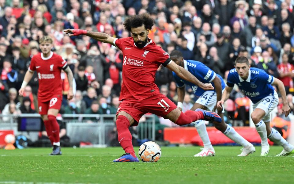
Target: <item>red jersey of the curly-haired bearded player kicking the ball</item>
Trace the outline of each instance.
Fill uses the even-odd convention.
[[[166,67],[171,59],[167,52],[151,39],[138,48],[133,37],[115,39],[114,44],[123,51],[123,84],[119,100],[149,97],[159,92],[154,83],[160,64]]]

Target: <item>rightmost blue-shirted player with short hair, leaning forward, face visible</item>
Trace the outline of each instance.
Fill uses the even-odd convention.
[[[279,79],[268,75],[258,68],[251,68],[246,57],[239,57],[235,61],[235,69],[228,74],[227,87],[222,98],[217,102],[218,108],[222,108],[224,102],[229,98],[234,84],[251,99],[253,102],[252,121],[261,137],[261,154],[266,156],[269,153],[267,138],[275,144],[281,145],[284,149],[276,156],[285,156],[294,153],[294,146],[289,144],[281,134],[270,127],[270,112],[277,107],[279,98],[272,85],[277,85],[283,99],[282,111],[287,117],[290,107],[287,102],[285,86]]]

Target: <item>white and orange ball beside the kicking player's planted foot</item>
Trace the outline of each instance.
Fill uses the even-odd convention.
[[[157,162],[161,157],[161,149],[155,142],[145,142],[139,148],[139,157],[143,162]]]

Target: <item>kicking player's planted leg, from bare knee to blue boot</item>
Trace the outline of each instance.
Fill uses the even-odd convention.
[[[121,147],[125,150],[125,154],[120,156],[118,159],[113,160],[113,162],[139,162],[137,158],[134,147],[132,144],[132,135],[130,133],[129,127],[134,124],[134,118],[121,111],[116,116],[116,129],[118,134],[118,141]]]

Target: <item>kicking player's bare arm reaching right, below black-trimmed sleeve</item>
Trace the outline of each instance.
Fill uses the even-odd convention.
[[[211,84],[204,84],[200,82],[194,75],[192,75],[189,71],[187,71],[185,68],[180,67],[175,62],[171,61],[166,66],[171,71],[174,71],[180,78],[189,81],[199,87],[201,87],[204,90],[214,90],[214,87]]]

